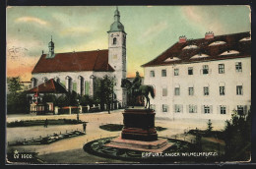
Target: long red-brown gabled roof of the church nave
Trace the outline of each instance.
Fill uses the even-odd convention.
[[[108,64],[108,50],[55,53],[53,58],[42,54],[32,74],[80,71],[113,72]]]

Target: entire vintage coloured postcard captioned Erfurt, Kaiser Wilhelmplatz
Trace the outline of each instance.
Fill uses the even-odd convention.
[[[6,16],[6,164],[251,161],[250,6]]]

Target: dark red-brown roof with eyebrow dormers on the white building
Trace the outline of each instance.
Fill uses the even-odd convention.
[[[213,35],[212,38],[207,35],[190,40],[182,36],[182,40],[142,67],[251,57],[250,32]]]

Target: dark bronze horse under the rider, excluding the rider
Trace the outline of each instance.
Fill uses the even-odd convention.
[[[132,83],[127,79],[122,79],[121,87],[126,87],[126,89],[128,91],[130,91],[132,99],[133,99],[132,107],[134,107],[136,97],[139,96],[139,95],[143,95],[147,99],[147,103],[146,103],[145,108],[147,108],[147,106],[149,106],[149,109],[150,109],[151,101],[150,101],[150,98],[149,98],[149,92],[151,92],[151,96],[153,98],[155,97],[154,87],[152,85],[140,85],[138,90],[132,90]]]

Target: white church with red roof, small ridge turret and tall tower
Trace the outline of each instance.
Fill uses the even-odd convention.
[[[114,80],[114,93],[121,106],[126,106],[126,92],[121,80],[126,78],[126,32],[116,8],[108,33],[108,49],[55,53],[55,44],[48,43],[48,53],[41,54],[32,70],[32,87],[54,80],[69,92],[94,95],[96,78]]]

